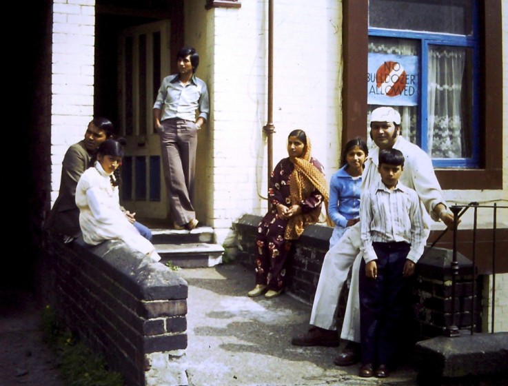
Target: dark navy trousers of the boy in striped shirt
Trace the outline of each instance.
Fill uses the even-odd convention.
[[[378,277],[367,278],[365,260],[360,263],[360,334],[362,363],[392,365],[403,313],[404,264],[408,243],[372,243],[378,260]]]

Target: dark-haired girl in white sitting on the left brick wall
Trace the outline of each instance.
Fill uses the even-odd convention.
[[[139,234],[120,207],[118,181],[114,171],[121,165],[125,140],[108,139],[101,143],[97,159],[81,175],[76,188],[79,225],[83,240],[97,245],[105,240],[122,240],[133,250],[153,261],[161,260],[150,241]]]

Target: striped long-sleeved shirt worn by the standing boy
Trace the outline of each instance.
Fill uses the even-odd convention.
[[[411,245],[407,258],[414,263],[423,254],[427,233],[423,223],[418,194],[398,181],[389,190],[379,181],[362,193],[360,198],[360,224],[363,258],[375,260],[373,242],[406,242]]]

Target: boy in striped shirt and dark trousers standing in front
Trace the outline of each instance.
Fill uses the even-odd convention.
[[[389,376],[405,278],[414,274],[427,241],[418,194],[398,181],[403,168],[400,150],[380,150],[381,181],[360,198],[362,366],[358,375],[365,378]]]

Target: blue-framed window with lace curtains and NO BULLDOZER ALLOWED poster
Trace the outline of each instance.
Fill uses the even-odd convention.
[[[436,167],[479,167],[476,0],[369,0],[367,113],[392,105]]]

